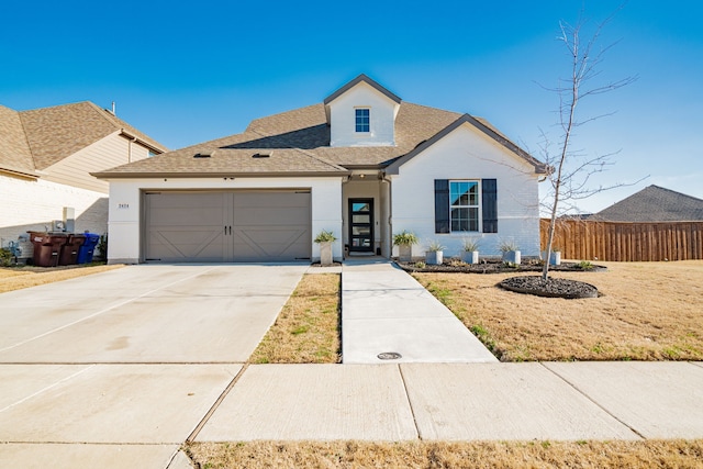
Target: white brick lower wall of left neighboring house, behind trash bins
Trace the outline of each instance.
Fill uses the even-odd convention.
[[[0,200],[3,247],[27,231],[51,230],[54,220],[63,219],[65,206],[75,209],[77,233],[108,231],[108,196],[101,192],[0,174]]]

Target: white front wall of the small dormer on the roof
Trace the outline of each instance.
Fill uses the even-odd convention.
[[[370,109],[370,132],[356,132],[357,108]],[[394,122],[400,104],[360,82],[330,103],[330,146],[395,145]]]

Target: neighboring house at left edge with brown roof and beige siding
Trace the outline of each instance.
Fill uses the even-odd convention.
[[[107,233],[109,185],[90,172],[166,149],[92,102],[19,112],[0,105],[1,247],[56,221]]]

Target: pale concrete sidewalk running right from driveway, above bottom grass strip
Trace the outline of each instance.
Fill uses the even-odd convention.
[[[197,442],[703,437],[700,362],[256,365]]]

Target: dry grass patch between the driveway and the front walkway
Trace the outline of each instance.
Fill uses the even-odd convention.
[[[249,362],[339,362],[339,282],[338,273],[303,276]]]

